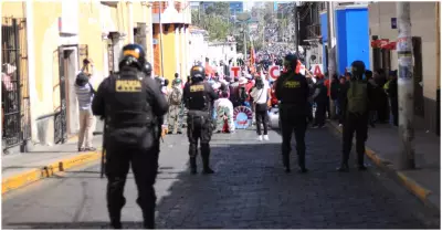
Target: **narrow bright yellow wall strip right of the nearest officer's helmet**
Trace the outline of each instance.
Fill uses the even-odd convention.
[[[177,59],[175,56],[175,27],[173,24],[170,24],[169,30],[162,35],[164,39],[164,45],[162,45],[162,62],[164,62],[164,71],[165,74],[162,75],[164,77],[168,78],[169,82],[175,78],[175,72],[176,72],[176,66],[177,66]]]

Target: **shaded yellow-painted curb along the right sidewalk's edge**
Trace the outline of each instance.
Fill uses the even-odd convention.
[[[343,129],[339,126],[337,126],[335,123],[329,122],[329,124],[336,130],[338,130],[340,134],[343,133]],[[415,182],[413,179],[407,177],[402,171],[394,169],[393,165],[389,160],[380,158],[379,155],[376,154],[376,151],[373,151],[371,148],[369,148],[367,146],[366,146],[366,155],[379,168],[388,171],[389,174],[392,174],[392,176],[396,177],[396,179],[399,182],[401,182],[402,186],[407,188],[407,190],[409,190],[417,198],[419,198],[427,207],[429,207],[431,209],[436,209],[440,211],[440,207],[429,200],[429,197],[433,193],[431,190],[424,188],[423,186]]]

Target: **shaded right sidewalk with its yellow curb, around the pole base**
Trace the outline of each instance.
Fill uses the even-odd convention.
[[[335,122],[332,125],[341,130]],[[379,167],[394,172],[398,179],[413,195],[421,199],[427,206],[440,210],[441,193],[441,166],[440,166],[440,137],[424,130],[415,130],[414,134],[414,170],[400,170],[399,130],[391,125],[377,125],[369,128],[366,143],[367,156]]]

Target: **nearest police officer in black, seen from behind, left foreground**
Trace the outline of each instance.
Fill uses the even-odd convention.
[[[155,118],[167,112],[168,104],[157,83],[144,73],[145,63],[140,45],[125,45],[119,72],[103,81],[92,104],[94,115],[106,119],[107,209],[114,229],[122,229],[120,213],[126,203],[123,192],[129,166],[138,188],[144,228],[155,228]]]

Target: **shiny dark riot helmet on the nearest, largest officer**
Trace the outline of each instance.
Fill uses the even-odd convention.
[[[123,46],[123,51],[119,56],[119,70],[122,70],[124,66],[134,66],[139,71],[144,71],[145,63],[146,53],[141,45],[131,43]]]

